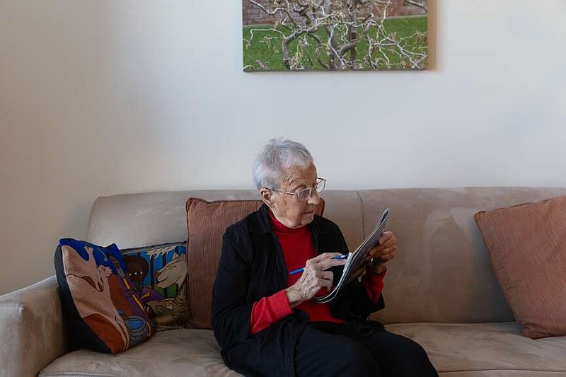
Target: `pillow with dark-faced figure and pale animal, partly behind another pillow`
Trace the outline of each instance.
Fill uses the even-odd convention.
[[[122,250],[127,271],[156,331],[189,323],[187,245],[164,243]]]

